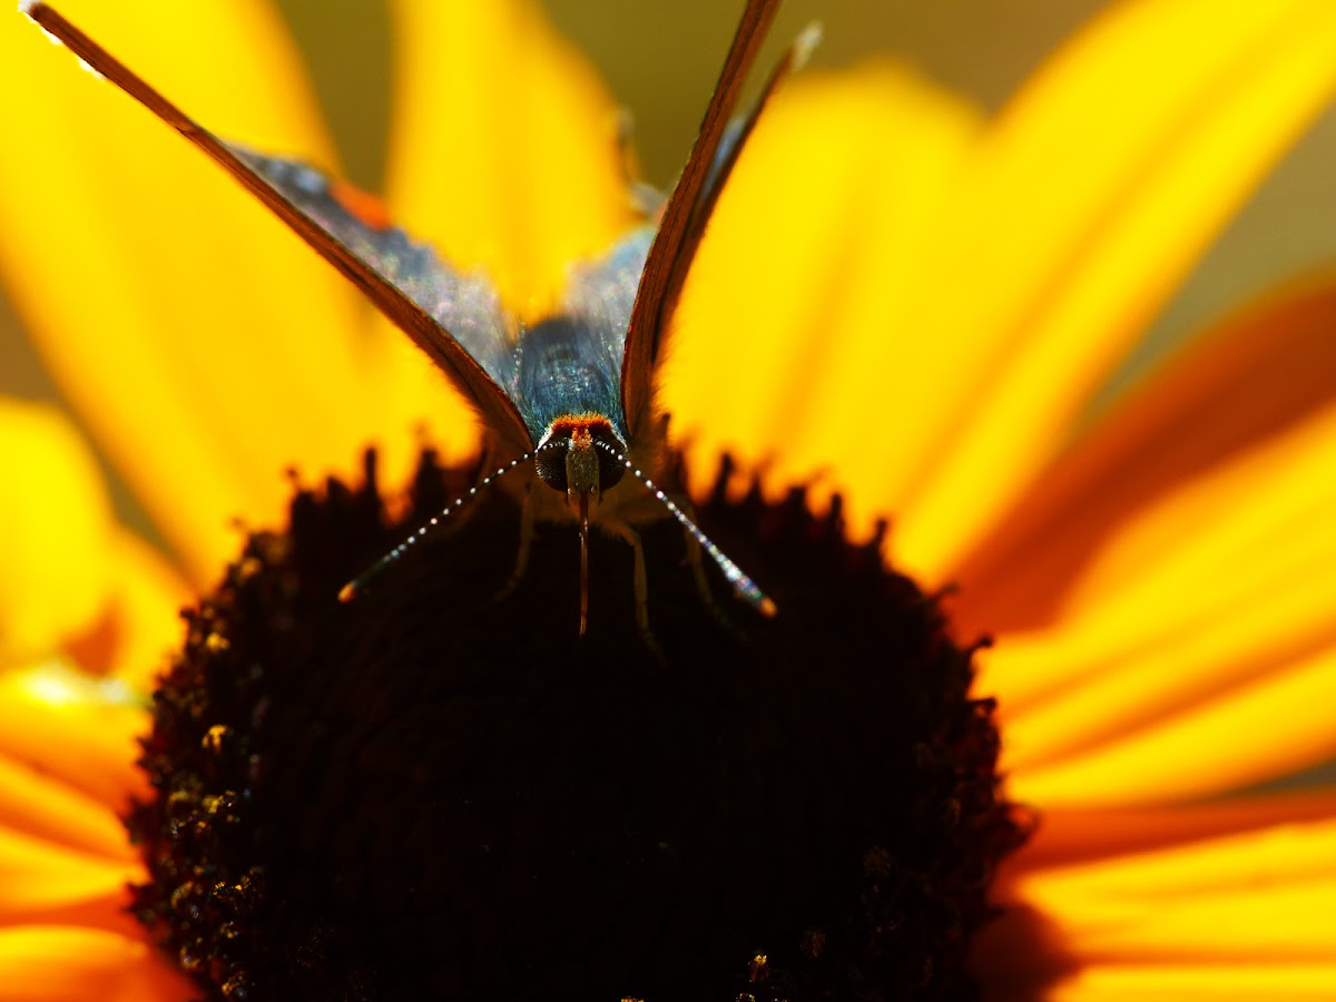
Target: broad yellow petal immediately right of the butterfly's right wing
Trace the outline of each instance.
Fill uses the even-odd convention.
[[[802,73],[775,96],[663,369],[705,477],[719,452],[759,454],[775,484],[834,472],[855,533],[886,514],[879,468],[918,434],[900,399],[923,343],[903,322],[914,269],[978,130],[977,110],[884,63]]]

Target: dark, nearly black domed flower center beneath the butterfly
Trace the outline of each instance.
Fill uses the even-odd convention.
[[[341,585],[466,489],[424,457],[386,525],[366,484],[257,533],[155,696],[130,819],[136,911],[210,999],[971,998],[965,955],[1021,827],[989,700],[938,603],[800,490],[701,528],[591,537],[480,497],[357,601]],[[541,488],[538,488],[541,489]],[[625,488],[623,488],[625,489]]]

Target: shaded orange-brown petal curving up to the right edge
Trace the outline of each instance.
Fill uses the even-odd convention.
[[[1130,387],[962,566],[953,617],[1045,625],[1134,512],[1336,399],[1336,274],[1276,290]]]

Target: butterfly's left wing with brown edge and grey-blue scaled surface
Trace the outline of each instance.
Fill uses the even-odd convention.
[[[530,448],[520,411],[502,389],[505,383],[489,371],[504,377],[501,355],[509,345],[506,321],[489,289],[454,275],[430,251],[413,247],[399,231],[367,224],[311,168],[261,158],[218,139],[45,4],[31,4],[25,12],[84,63],[204,151],[343,273],[473,403],[502,452],[517,454]],[[371,257],[361,257],[363,253]],[[481,313],[469,318],[464,334],[481,357],[445,326],[462,322],[474,306]]]

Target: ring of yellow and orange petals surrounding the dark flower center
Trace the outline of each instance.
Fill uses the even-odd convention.
[[[609,107],[526,4],[482,9],[395,8],[410,27],[391,202],[538,310],[564,263],[627,222]],[[219,132],[333,163],[262,4],[184,24],[71,13]],[[11,293],[196,587],[235,550],[232,514],[277,521],[275,469],[341,469],[375,437],[401,480],[403,430],[461,420],[210,164],[31,32],[0,39],[4,72],[41,95],[11,102],[25,142],[0,164]],[[1173,0],[1092,25],[993,122],[886,65],[795,80],[701,250],[664,374],[697,462],[770,458],[775,485],[828,468],[855,533],[894,512],[895,564],[959,580],[962,628],[995,631],[979,687],[1001,697],[1013,795],[1043,818],[981,949],[998,993],[1319,997],[1336,981],[1336,800],[1210,799],[1332,752],[1329,279],[1082,411],[1329,98],[1333,49],[1325,3]],[[216,87],[220,65],[235,87]],[[1156,91],[1122,86],[1140,79]],[[446,118],[449,135],[429,126]],[[720,370],[739,374],[723,397]],[[0,593],[0,983],[179,997],[119,911],[139,870],[114,814],[143,792],[127,689],[171,643],[184,587],[112,521],[59,417],[0,417],[25,470],[5,492]]]

